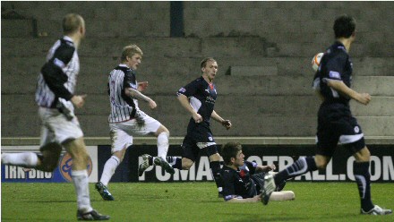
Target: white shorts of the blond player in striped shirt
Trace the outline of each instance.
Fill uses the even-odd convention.
[[[138,111],[138,115],[144,124],[138,124],[135,118],[120,123],[109,124],[112,153],[133,145],[134,135],[147,135],[158,131],[158,127],[161,125],[160,122],[142,111]]]

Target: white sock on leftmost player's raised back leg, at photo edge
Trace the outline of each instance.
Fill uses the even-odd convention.
[[[3,153],[2,164],[23,166],[23,167],[35,167],[37,166],[39,158],[36,153]]]

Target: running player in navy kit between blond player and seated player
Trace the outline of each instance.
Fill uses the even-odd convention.
[[[205,58],[201,61],[202,76],[184,88],[178,90],[178,100],[191,115],[187,134],[184,137],[182,148],[183,158],[167,157],[167,161],[177,169],[189,169],[193,166],[200,149],[204,149],[210,158],[210,169],[212,170],[218,192],[221,192],[220,184],[220,155],[210,132],[210,118],[222,124],[226,129],[231,128],[231,122],[218,115],[213,109],[217,92],[213,80],[218,73],[218,63],[213,58]],[[141,164],[144,169],[148,168],[148,160]]]

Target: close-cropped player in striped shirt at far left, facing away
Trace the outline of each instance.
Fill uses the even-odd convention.
[[[79,220],[107,220],[90,206],[89,154],[83,132],[73,108],[81,108],[86,95],[75,95],[80,61],[77,49],[85,36],[85,21],[70,13],[63,20],[64,37],[56,41],[47,54],[47,63],[39,73],[36,102],[41,119],[40,154],[5,153],[2,163],[52,172],[56,169],[62,147],[73,158],[72,178],[77,193]]]

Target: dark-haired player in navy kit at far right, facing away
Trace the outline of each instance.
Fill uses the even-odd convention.
[[[299,158],[292,166],[273,177],[266,176],[263,203],[267,204],[275,184],[318,168],[324,169],[337,147],[338,141],[353,153],[355,181],[361,200],[361,213],[386,215],[391,209],[381,209],[371,200],[371,180],[369,173],[370,151],[364,143],[364,133],[350,112],[349,100],[367,105],[371,101],[368,93],[358,93],[350,89],[353,64],[348,52],[355,40],[355,19],[342,15],[334,22],[336,42],[321,58],[315,74],[313,88],[322,98],[318,113],[317,151],[314,158]]]

